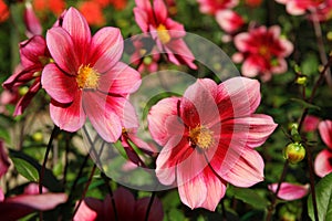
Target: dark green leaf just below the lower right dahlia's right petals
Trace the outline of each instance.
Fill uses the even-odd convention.
[[[259,196],[255,190],[245,189],[245,188],[232,188],[232,189],[234,189],[234,197],[236,199],[239,199],[256,209],[264,209],[268,207],[268,200]]]

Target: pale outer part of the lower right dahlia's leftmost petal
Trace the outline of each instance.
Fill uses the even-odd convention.
[[[153,139],[160,146],[164,146],[169,139],[167,128],[164,125],[168,117],[177,115],[178,101],[179,98],[177,97],[162,99],[148,113],[148,130]]]

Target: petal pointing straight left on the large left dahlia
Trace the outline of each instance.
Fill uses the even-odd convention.
[[[75,77],[64,74],[52,63],[44,67],[41,83],[48,94],[62,104],[73,102],[79,91]]]

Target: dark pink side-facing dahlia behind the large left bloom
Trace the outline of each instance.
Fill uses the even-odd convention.
[[[51,55],[46,46],[44,38],[34,35],[31,39],[20,43],[21,64],[15,69],[14,73],[2,84],[7,90],[32,84],[27,94],[18,102],[13,115],[23,114],[33,96],[41,88],[41,73],[45,64],[50,63]]]

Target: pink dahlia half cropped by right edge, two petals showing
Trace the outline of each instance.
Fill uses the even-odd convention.
[[[332,172],[332,120],[321,122],[319,131],[328,149],[323,149],[315,157],[314,171],[319,177],[325,177]]]

